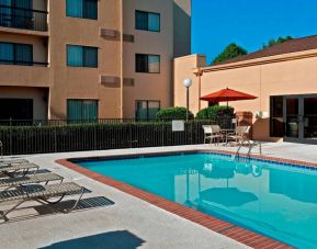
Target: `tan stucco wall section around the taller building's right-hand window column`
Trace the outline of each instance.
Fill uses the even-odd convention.
[[[160,101],[171,105],[171,60],[173,58],[173,2],[171,0],[125,0],[124,33],[135,36],[124,43],[124,78],[133,78],[133,87],[124,87],[124,117],[135,116],[136,100]],[[160,13],[160,32],[135,30],[135,10]],[[160,73],[135,72],[135,54],[160,55]]]

